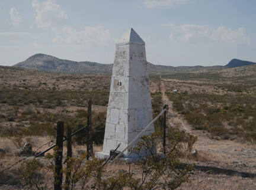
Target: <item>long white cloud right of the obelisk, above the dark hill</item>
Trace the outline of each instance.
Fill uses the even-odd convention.
[[[226,44],[251,44],[251,40],[245,28],[238,28],[238,30],[232,30],[231,28],[219,27],[210,28],[207,25],[196,24],[165,24],[165,26],[171,27],[173,32],[169,35],[169,40],[179,40],[183,42],[192,43],[226,43]]]

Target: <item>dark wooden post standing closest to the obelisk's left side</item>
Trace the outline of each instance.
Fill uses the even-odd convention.
[[[88,116],[87,116],[87,160],[92,155],[92,119],[91,119],[91,100],[88,101]]]

